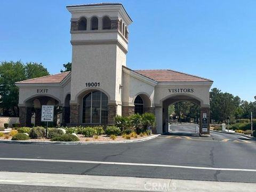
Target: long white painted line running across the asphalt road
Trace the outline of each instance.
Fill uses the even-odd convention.
[[[165,165],[165,164],[149,164],[149,163],[101,162],[101,161],[83,161],[83,160],[66,160],[66,159],[0,158],[0,160],[4,160],[4,161],[62,162],[62,163],[88,163],[88,164],[131,165],[131,166],[155,166],[155,167],[172,167],[172,168],[197,169],[197,170],[256,172],[256,169],[236,169],[236,168],[232,169],[232,168],[218,168],[218,167],[198,167],[198,166]]]

